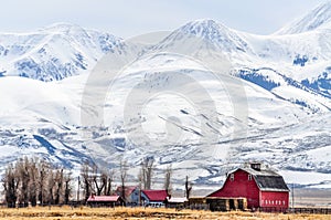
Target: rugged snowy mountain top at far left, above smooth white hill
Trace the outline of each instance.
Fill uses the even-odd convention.
[[[90,71],[106,53],[130,53],[122,39],[56,23],[30,33],[0,34],[0,72],[40,81],[58,81]]]

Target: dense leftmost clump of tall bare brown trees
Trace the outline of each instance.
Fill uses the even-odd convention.
[[[68,203],[72,196],[71,172],[54,168],[36,158],[10,164],[2,177],[4,199],[9,208]]]

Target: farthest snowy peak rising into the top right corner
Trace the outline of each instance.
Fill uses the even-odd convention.
[[[276,34],[293,34],[331,27],[331,1],[324,2],[311,10],[303,18],[284,27]]]

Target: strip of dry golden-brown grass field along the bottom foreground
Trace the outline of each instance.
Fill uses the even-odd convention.
[[[197,210],[153,209],[153,208],[71,208],[71,207],[43,207],[7,209],[0,208],[0,220],[102,220],[102,219],[269,219],[269,220],[331,220],[325,214],[284,214],[284,213],[260,213],[260,212],[211,212]]]

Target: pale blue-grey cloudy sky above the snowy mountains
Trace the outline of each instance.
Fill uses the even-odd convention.
[[[129,38],[171,31],[196,19],[270,34],[325,0],[0,0],[0,32],[25,32],[56,22]]]

